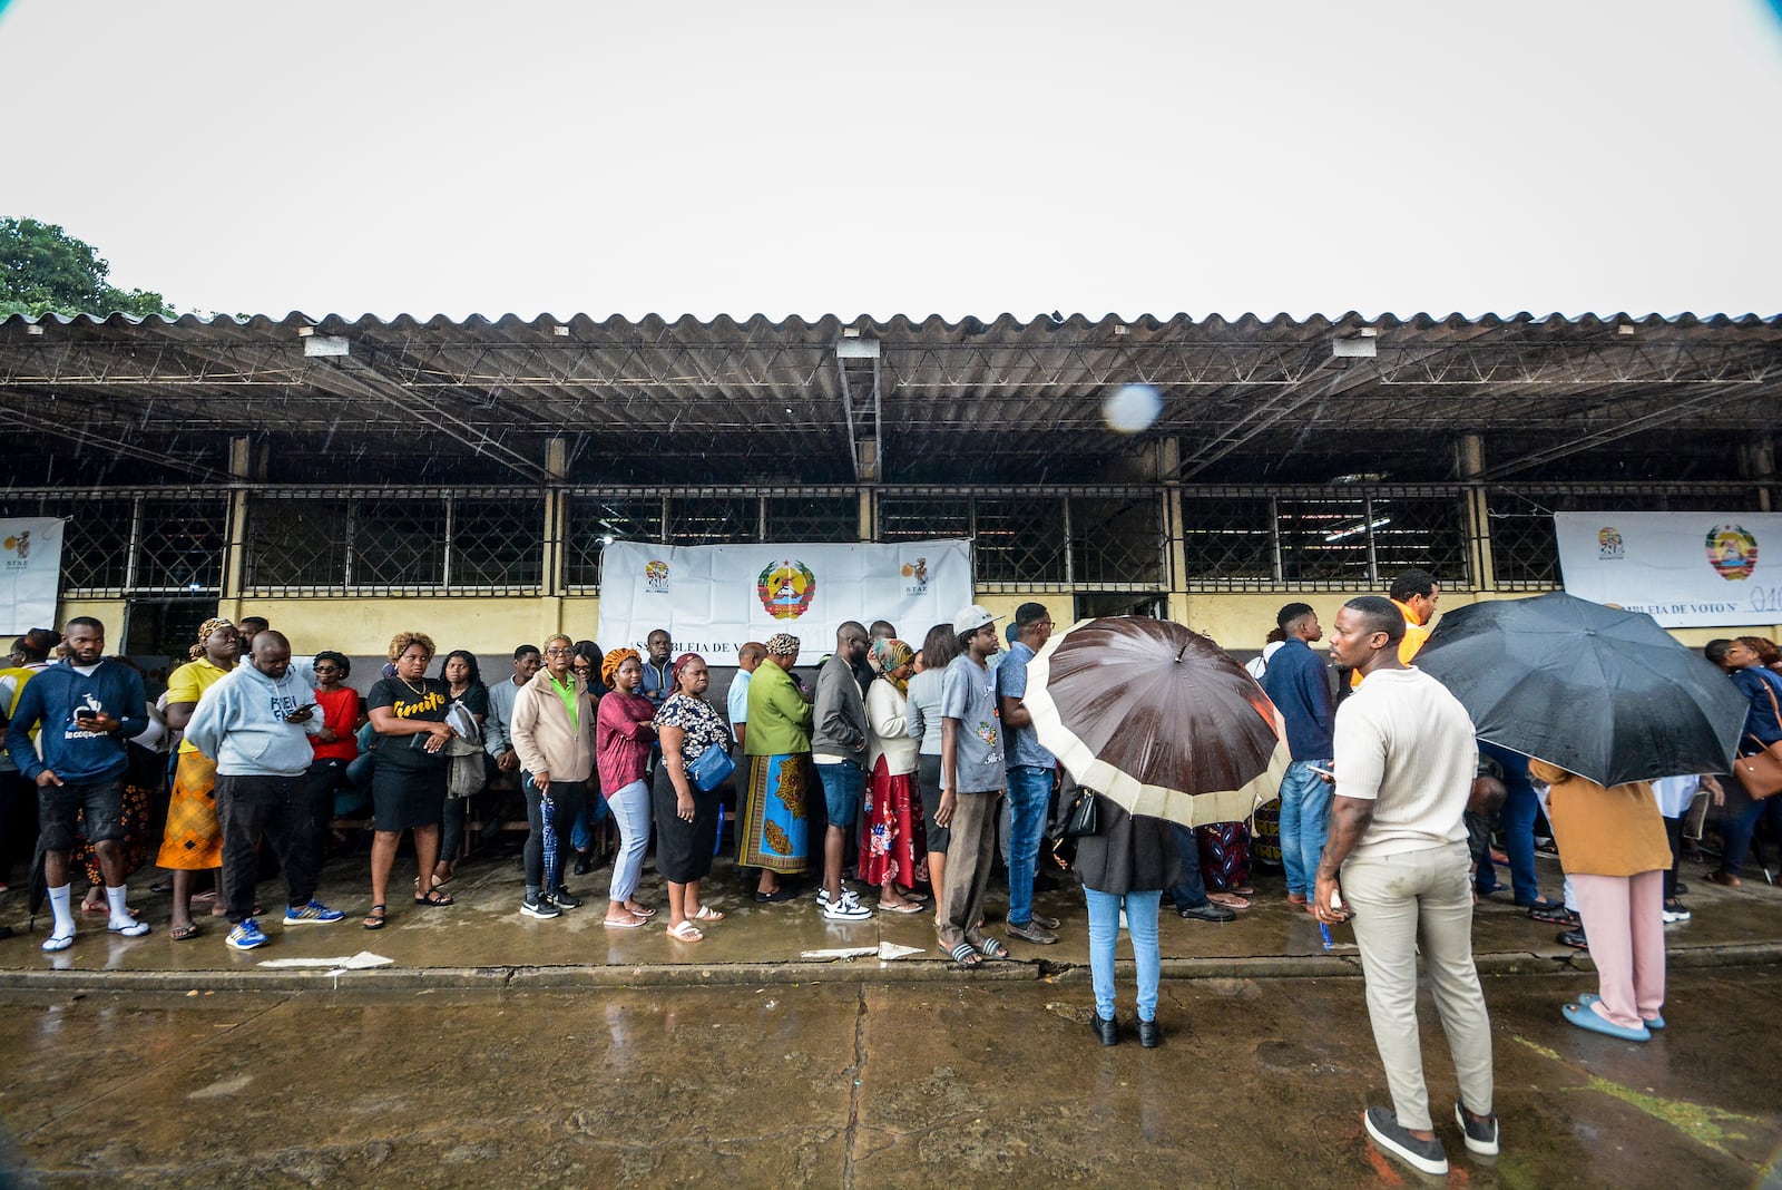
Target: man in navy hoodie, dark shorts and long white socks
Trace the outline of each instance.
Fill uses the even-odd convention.
[[[37,850],[43,878],[50,885],[55,926],[46,951],[75,944],[75,914],[69,907],[68,850],[75,844],[75,818],[86,814],[86,835],[105,876],[110,907],[107,930],[123,937],[148,933],[146,921],[125,907],[123,773],[132,736],[148,729],[148,697],[143,679],[127,664],[105,661],[105,625],[91,616],[68,622],[68,659],[39,672],[20,695],[5,730],[12,764],[37,784]],[[43,723],[37,741],[30,730]],[[37,746],[43,755],[37,755]]]

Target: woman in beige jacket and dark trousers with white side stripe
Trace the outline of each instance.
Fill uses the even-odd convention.
[[[593,775],[593,695],[570,672],[574,641],[552,636],[545,641],[545,664],[513,697],[510,738],[520,759],[520,789],[526,791],[526,900],[527,917],[558,917],[581,898],[563,887],[570,828],[588,798]],[[547,830],[549,827],[549,830]],[[545,862],[547,835],[552,848]]]

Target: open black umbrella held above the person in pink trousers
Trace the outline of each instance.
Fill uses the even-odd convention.
[[[1652,616],[1565,591],[1449,611],[1415,664],[1479,739],[1604,786],[1725,773],[1745,723],[1727,675]]]

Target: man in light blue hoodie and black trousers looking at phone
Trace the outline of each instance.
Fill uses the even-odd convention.
[[[235,666],[198,700],[185,738],[217,759],[217,819],[223,823],[223,892],[233,928],[233,950],[266,944],[253,919],[260,835],[273,844],[289,891],[285,925],[340,921],[344,914],[315,900],[310,848],[310,736],[321,734],[308,682],[290,672],[290,643],[266,629],[253,638],[253,657]]]

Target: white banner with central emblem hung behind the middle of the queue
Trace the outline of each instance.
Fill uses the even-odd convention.
[[[668,629],[674,650],[736,664],[745,641],[791,632],[807,657],[836,647],[843,620],[889,620],[920,647],[971,602],[971,542],[855,545],[650,545],[613,542],[601,558],[602,648]]]

